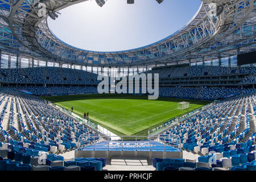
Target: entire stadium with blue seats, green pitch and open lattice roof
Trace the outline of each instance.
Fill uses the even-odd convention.
[[[256,171],[255,1],[125,51],[49,28],[86,1],[0,0],[0,171]]]

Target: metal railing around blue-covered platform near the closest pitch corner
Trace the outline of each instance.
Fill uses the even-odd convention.
[[[116,136],[82,134],[78,139],[78,150],[167,151],[181,148],[179,135],[118,136],[120,140],[112,140],[111,137]]]

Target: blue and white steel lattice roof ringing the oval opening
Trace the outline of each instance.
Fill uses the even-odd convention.
[[[0,0],[0,49],[57,63],[123,67],[217,59],[237,55],[237,49],[255,49],[254,0],[201,0],[199,10],[183,28],[144,47],[116,52],[96,52],[72,47],[48,28],[47,17],[88,0]],[[209,4],[214,2],[217,14]],[[40,3],[46,14],[40,18]]]

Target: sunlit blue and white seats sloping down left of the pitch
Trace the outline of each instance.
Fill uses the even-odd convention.
[[[85,144],[98,139],[92,129],[28,94],[1,90],[0,107],[1,150],[33,156],[59,154],[75,150],[82,134],[89,135]]]

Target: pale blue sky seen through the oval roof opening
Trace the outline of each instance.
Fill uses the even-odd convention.
[[[48,18],[52,32],[65,43],[90,51],[123,51],[159,41],[195,15],[200,0],[108,0],[103,7],[86,1]]]

